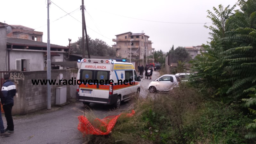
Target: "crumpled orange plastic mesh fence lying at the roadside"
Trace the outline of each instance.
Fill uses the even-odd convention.
[[[83,136],[86,134],[107,135],[112,131],[119,116],[131,117],[134,114],[135,111],[132,110],[132,113],[129,114],[121,113],[117,116],[107,116],[103,119],[96,118],[92,122],[93,124],[85,116],[78,116],[79,124],[77,129],[83,133]]]

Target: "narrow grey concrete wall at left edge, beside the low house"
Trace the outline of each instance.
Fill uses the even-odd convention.
[[[7,51],[6,51],[6,28],[0,28],[0,69],[8,70]]]

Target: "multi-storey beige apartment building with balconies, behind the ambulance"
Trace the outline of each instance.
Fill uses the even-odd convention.
[[[149,36],[145,33],[132,33],[126,32],[115,35],[116,38],[112,39],[116,44],[112,48],[116,50],[116,56],[125,59],[140,60],[145,59],[147,56],[152,55],[152,42],[148,40]]]

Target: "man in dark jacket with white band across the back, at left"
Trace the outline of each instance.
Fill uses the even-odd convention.
[[[4,109],[4,115],[7,122],[7,128],[4,130],[7,133],[14,132],[14,124],[12,119],[12,106],[14,103],[13,97],[16,95],[16,85],[10,80],[8,74],[4,75],[4,84],[2,86],[3,98],[1,103]]]

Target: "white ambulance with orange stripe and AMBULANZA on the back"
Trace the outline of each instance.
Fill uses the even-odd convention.
[[[121,101],[140,93],[140,76],[126,60],[82,59],[77,61],[77,100],[119,108]]]

